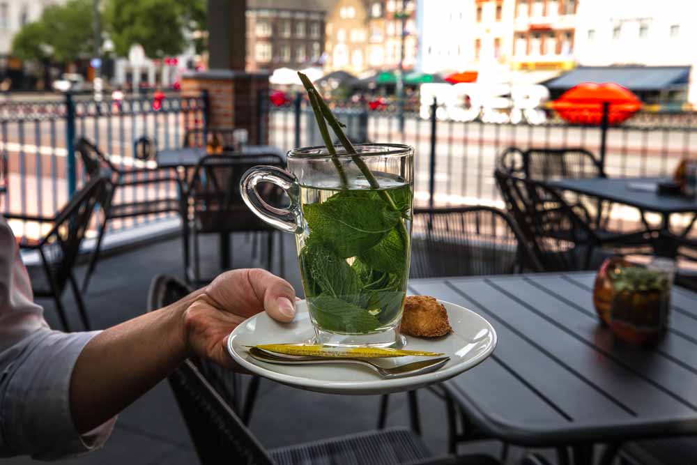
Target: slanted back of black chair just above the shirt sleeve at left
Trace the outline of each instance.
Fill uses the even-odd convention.
[[[42,241],[39,252],[45,257],[47,276],[59,293],[66,288],[95,206],[105,189],[104,178],[92,178],[56,216],[54,226]]]

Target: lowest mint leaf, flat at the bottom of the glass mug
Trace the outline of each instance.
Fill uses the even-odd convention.
[[[344,300],[320,294],[309,300],[309,310],[317,324],[337,333],[369,333],[380,321],[364,308]]]

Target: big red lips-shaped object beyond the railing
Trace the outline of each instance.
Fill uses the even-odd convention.
[[[569,123],[599,125],[603,121],[603,104],[607,102],[608,123],[620,124],[641,108],[641,100],[629,89],[606,82],[583,82],[572,87],[550,106]]]

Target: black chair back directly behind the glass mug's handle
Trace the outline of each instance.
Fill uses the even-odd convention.
[[[201,158],[188,188],[197,231],[273,230],[247,208],[240,193],[243,174],[257,165],[282,167],[284,163],[275,153],[207,155]],[[284,195],[282,190],[270,184],[263,185],[259,194],[274,206],[280,206]]]

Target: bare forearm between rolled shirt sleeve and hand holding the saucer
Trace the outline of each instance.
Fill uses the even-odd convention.
[[[201,292],[109,328],[85,346],[70,379],[78,432],[115,416],[187,357],[183,314]]]

